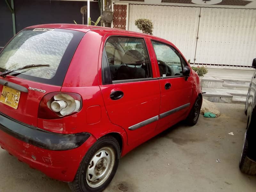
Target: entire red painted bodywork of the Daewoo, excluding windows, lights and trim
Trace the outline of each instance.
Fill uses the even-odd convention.
[[[191,68],[190,77],[187,80],[184,76],[157,78],[160,77],[160,73],[151,39],[169,44],[177,49],[164,39],[125,30],[72,24],[45,24],[28,28],[62,28],[86,33],[76,48],[62,87],[14,76],[0,77],[0,79],[26,88],[36,87],[46,90],[46,93],[21,92],[18,109],[14,110],[0,103],[0,113],[18,122],[54,134],[90,133],[90,137],[76,148],[49,150],[19,140],[0,130],[0,145],[4,149],[54,179],[71,182],[87,150],[97,139],[107,134],[119,135],[122,141],[121,156],[124,156],[141,143],[185,119],[198,95],[202,94],[199,77]],[[110,36],[130,36],[144,39],[151,62],[152,75],[155,79],[103,85],[102,53],[105,42]],[[181,54],[181,56],[183,55]],[[189,66],[188,63],[187,65]],[[171,89],[164,89],[166,83],[172,84]],[[0,92],[2,92],[2,87],[0,85]],[[111,100],[110,93],[119,90],[124,92],[123,98]],[[79,112],[70,116],[58,119],[37,118],[39,103],[50,92],[77,93],[81,96],[83,106]],[[163,118],[159,117],[166,111],[188,103],[186,108],[177,113]],[[130,129],[133,125],[152,117],[157,117],[159,120],[136,130]]]

